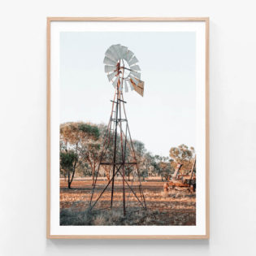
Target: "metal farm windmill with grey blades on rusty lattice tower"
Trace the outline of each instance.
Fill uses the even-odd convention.
[[[106,130],[106,136],[102,144],[102,152],[99,158],[99,164],[95,173],[93,190],[89,202],[90,209],[98,203],[103,193],[111,187],[111,208],[114,204],[115,181],[117,175],[121,176],[123,191],[124,215],[128,207],[128,200],[132,194],[137,202],[146,209],[145,197],[141,186],[141,176],[137,163],[137,157],[132,143],[132,137],[128,126],[128,119],[125,112],[124,101],[125,91],[128,93],[128,86],[135,90],[142,97],[144,94],[144,82],[141,80],[141,69],[137,65],[138,60],[128,47],[121,45],[110,46],[105,53],[103,60],[105,72],[108,80],[112,83],[115,94],[111,107],[111,117]],[[111,178],[102,188],[100,186],[99,195],[95,196],[95,190],[98,182],[98,173],[101,167],[110,167]],[[125,178],[125,171],[128,168],[134,169],[137,175],[137,184],[129,184]],[[126,193],[128,190],[129,193]]]

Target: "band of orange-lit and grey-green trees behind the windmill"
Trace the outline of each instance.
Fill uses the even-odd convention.
[[[76,177],[91,176],[92,184],[98,168],[102,145],[106,138],[107,127],[105,124],[90,124],[84,122],[69,122],[60,125],[60,176],[67,178],[67,186],[71,188],[72,180]],[[117,136],[119,144],[120,137]],[[141,141],[132,140],[133,148],[139,164],[142,179],[148,176],[162,176],[167,178],[175,171],[176,165],[182,163],[181,173],[190,171],[193,164],[194,149],[187,145],[171,147],[169,156],[163,157],[151,154],[145,149]],[[127,147],[126,161],[132,162],[132,150]],[[113,161],[114,143],[111,143],[104,154],[104,161]],[[121,147],[116,150],[117,159],[122,158]],[[112,166],[101,166],[99,176],[111,179]],[[125,174],[128,180],[135,175],[134,166],[126,166]]]

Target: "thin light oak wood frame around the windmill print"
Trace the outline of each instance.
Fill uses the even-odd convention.
[[[206,23],[206,235],[51,235],[50,234],[50,23],[54,21],[191,21]],[[47,239],[209,239],[210,238],[210,188],[209,188],[209,18],[208,17],[47,17],[47,127],[46,127],[46,238]]]

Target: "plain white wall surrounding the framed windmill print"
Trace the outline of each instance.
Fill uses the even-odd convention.
[[[46,240],[46,16],[210,17],[210,241]],[[255,255],[254,1],[0,4],[1,255]]]

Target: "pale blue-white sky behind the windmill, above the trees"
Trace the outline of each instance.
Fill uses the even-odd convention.
[[[60,123],[107,124],[115,89],[103,59],[114,44],[139,60],[144,97],[124,93],[132,139],[153,154],[196,145],[196,34],[193,32],[60,33]]]

